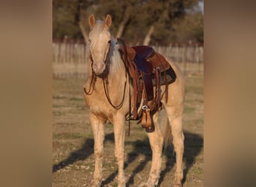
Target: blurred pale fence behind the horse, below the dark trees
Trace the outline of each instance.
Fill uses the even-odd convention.
[[[152,47],[156,52],[180,64],[185,73],[191,70],[199,72],[203,70],[204,46],[202,43],[171,43],[169,46]],[[82,40],[54,40],[52,50],[53,78],[83,78],[87,75],[85,43]]]

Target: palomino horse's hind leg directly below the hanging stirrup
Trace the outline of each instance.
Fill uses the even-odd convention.
[[[147,132],[152,150],[152,164],[150,168],[150,176],[148,177],[147,183],[144,183],[144,187],[154,187],[157,185],[162,164],[163,136],[161,130],[159,129],[157,113],[153,115],[153,123],[155,125],[155,131]]]

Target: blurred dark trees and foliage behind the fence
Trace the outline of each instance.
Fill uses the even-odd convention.
[[[180,41],[204,42],[204,15],[199,12],[200,0],[53,0],[52,35],[54,38],[82,38],[78,22],[84,11],[85,29],[88,16],[97,19],[112,16],[112,34],[115,36],[124,22],[122,38],[129,43],[143,43],[154,25],[151,43],[168,44]]]

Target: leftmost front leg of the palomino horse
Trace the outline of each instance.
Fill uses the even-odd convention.
[[[91,187],[100,187],[103,178],[103,141],[105,138],[104,124],[106,120],[90,114],[91,128],[94,132],[94,156],[95,168],[94,178],[91,180]]]

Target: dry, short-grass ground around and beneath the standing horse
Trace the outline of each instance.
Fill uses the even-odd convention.
[[[183,187],[204,186],[204,73],[186,67],[186,102]],[[53,79],[52,96],[52,186],[88,186],[94,172],[94,138],[83,99],[85,79]],[[128,123],[127,123],[128,124]],[[128,125],[127,125],[128,132]],[[147,180],[151,150],[147,135],[132,122],[125,141],[127,186]],[[170,146],[163,152],[159,186],[174,179],[175,154]],[[106,125],[102,186],[118,186],[114,156],[113,125]]]

